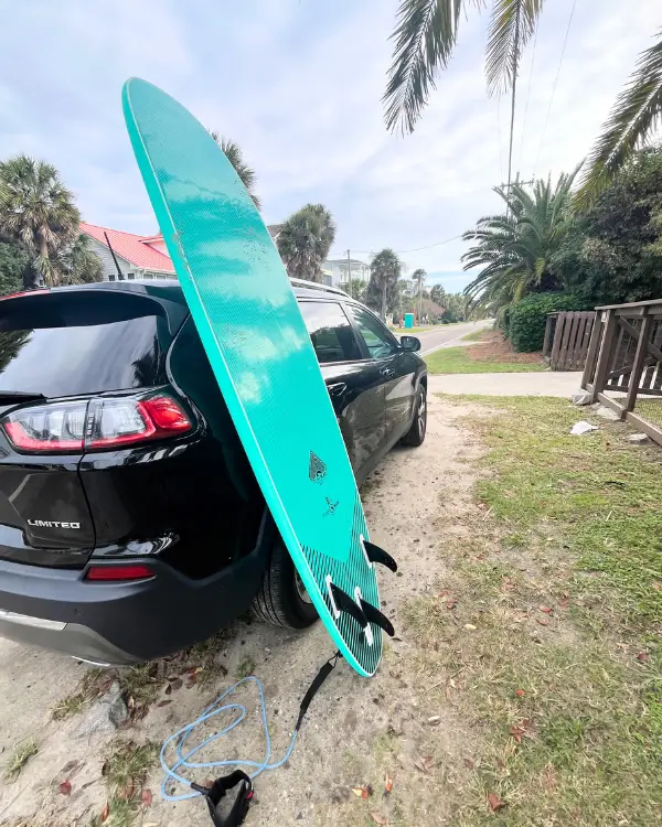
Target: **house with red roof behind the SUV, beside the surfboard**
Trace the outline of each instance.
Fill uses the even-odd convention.
[[[267,227],[276,240],[279,224]],[[121,229],[97,227],[95,224],[81,223],[81,233],[87,236],[89,246],[102,260],[104,281],[122,279],[175,279],[174,267],[166,249],[163,236],[137,236]],[[115,254],[115,259],[113,258]],[[117,265],[115,264],[117,260]]]

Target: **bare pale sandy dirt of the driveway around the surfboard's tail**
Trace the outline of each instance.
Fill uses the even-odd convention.
[[[572,389],[576,386],[568,375],[552,376],[565,379]],[[547,374],[515,374],[512,378],[549,382]],[[470,383],[465,391],[485,393],[481,376],[430,379],[450,393],[460,393],[457,383],[461,379]],[[489,393],[500,393],[500,388],[509,387],[511,377],[502,374],[490,379],[494,387]],[[511,387],[509,393],[517,391]],[[471,733],[461,732],[450,704],[433,707],[426,687],[403,668],[404,659],[408,662],[416,651],[416,641],[407,635],[402,609],[412,595],[430,591],[444,574],[442,526],[450,519],[453,534],[471,530],[466,517],[474,477],[466,462],[481,451],[471,434],[453,423],[467,410],[445,406],[430,395],[425,444],[394,450],[364,486],[372,538],[388,549],[401,567],[398,576],[385,569],[380,572],[382,608],[393,620],[397,637],[387,645],[374,679],[357,677],[342,663],[335,669],[310,707],[289,763],[257,780],[257,804],[247,825],[354,827],[384,824],[386,817],[392,825],[450,824],[444,790],[467,773],[463,756]],[[162,742],[225,690],[234,681],[238,664],[249,657],[255,663],[254,674],[265,686],[273,759],[278,760],[289,741],[303,692],[332,654],[333,646],[321,624],[295,634],[239,622],[228,631],[217,656],[228,670],[227,677],[204,689],[194,686],[172,692],[170,705],[152,705],[147,717],[120,737],[139,743]],[[86,668],[72,659],[0,640],[0,777],[18,742],[34,738],[39,745],[39,753],[18,780],[0,781],[0,824],[22,818],[50,827],[88,825],[99,814],[107,798],[102,764],[109,742],[117,735],[88,732],[86,724],[93,710],[60,722],[51,717],[55,704],[75,691]],[[248,709],[246,720],[201,754],[201,760],[260,760],[264,740],[255,688],[242,690],[239,702]],[[428,724],[431,716],[440,717],[439,726]],[[420,755],[430,756],[433,772],[414,766]],[[72,762],[76,762],[74,770]],[[386,773],[394,778],[388,797],[383,796]],[[207,771],[197,780],[211,775]],[[68,796],[57,792],[65,777],[72,783]],[[137,825],[207,824],[201,801],[162,801],[160,781],[161,773],[154,767],[148,781],[153,803],[138,817]],[[367,784],[374,788],[367,801],[351,792],[351,787]],[[111,819],[107,824],[111,825]]]

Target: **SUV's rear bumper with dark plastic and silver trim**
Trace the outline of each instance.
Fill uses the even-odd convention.
[[[204,580],[154,558],[156,572],[132,583],[86,582],[84,571],[0,560],[0,636],[99,664],[163,657],[202,641],[250,603],[266,556],[248,556]]]

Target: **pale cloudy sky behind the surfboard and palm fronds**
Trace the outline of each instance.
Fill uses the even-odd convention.
[[[423,267],[428,283],[459,291],[472,278],[462,272],[468,245],[447,239],[499,211],[510,100],[488,97],[488,14],[468,4],[415,132],[387,132],[381,97],[397,6],[0,0],[0,158],[47,160],[85,221],[153,234],[120,105],[124,80],[143,77],[241,144],[267,223],[322,203],[338,225],[331,257],[349,248],[369,260],[391,247],[407,272]],[[589,151],[662,25],[660,0],[636,7],[546,0],[519,80],[513,169],[523,180],[556,178]]]

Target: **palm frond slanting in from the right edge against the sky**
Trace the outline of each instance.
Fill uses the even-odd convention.
[[[639,55],[626,88],[617,97],[602,133],[586,159],[576,202],[587,207],[615,174],[645,143],[662,117],[662,29],[656,42]]]

